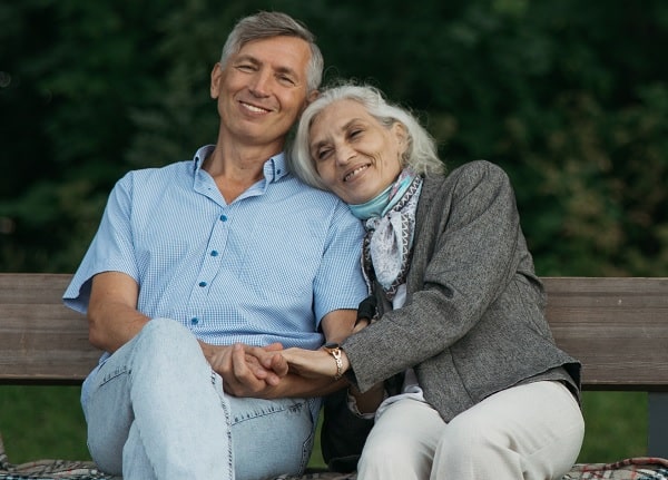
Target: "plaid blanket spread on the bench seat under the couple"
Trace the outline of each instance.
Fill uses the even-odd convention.
[[[615,463],[578,463],[561,480],[668,480],[668,460],[632,458]],[[0,437],[0,480],[121,480],[99,471],[89,461],[37,460],[10,463]],[[356,476],[313,472],[302,477],[279,476],[266,480],[356,480]]]

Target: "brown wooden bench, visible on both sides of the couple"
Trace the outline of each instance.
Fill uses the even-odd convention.
[[[100,352],[65,307],[71,275],[0,274],[0,384],[78,384]],[[648,455],[668,458],[668,278],[546,277],[557,343],[584,390],[649,392]]]

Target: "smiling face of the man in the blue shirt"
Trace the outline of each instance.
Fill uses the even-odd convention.
[[[295,37],[250,41],[212,72],[222,133],[232,141],[283,148],[306,105],[308,43]]]

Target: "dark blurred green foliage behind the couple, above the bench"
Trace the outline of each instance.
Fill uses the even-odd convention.
[[[662,0],[2,4],[3,270],[71,271],[124,172],[215,141],[210,69],[259,9],[317,33],[326,82],[413,108],[451,168],[503,166],[540,274],[668,274]]]

